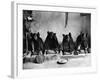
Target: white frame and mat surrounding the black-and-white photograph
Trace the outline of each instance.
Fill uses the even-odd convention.
[[[23,31],[23,10],[43,10],[43,11],[60,11],[60,12],[80,12],[91,13],[91,66],[77,68],[53,68],[53,69],[29,69],[23,70],[22,61],[22,31]],[[42,77],[57,76],[72,73],[96,72],[96,8],[86,7],[68,7],[56,5],[37,5],[27,3],[13,2],[13,50],[12,50],[12,77]]]

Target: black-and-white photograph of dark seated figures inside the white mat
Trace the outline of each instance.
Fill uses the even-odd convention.
[[[22,10],[23,69],[91,66],[91,13]]]

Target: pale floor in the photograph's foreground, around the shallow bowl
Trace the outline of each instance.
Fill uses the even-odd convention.
[[[23,69],[41,69],[41,68],[68,68],[68,67],[88,67],[91,66],[91,54],[80,55],[65,55],[61,58],[68,60],[66,64],[57,64],[57,55],[47,55],[54,59],[45,60],[41,64],[26,62],[23,64]]]

